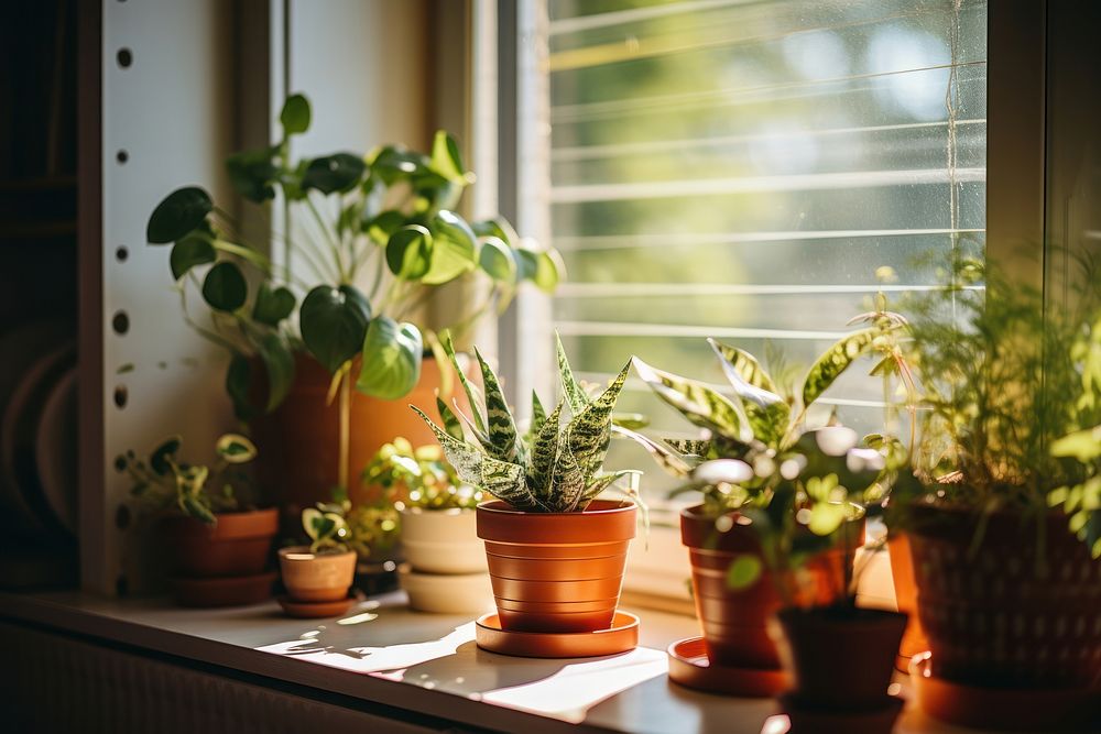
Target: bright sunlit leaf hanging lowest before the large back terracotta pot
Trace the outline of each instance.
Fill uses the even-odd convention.
[[[407,395],[421,379],[423,357],[424,341],[415,326],[378,316],[367,328],[356,388],[384,401]]]

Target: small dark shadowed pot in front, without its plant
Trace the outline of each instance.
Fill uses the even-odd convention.
[[[887,701],[906,615],[848,606],[785,609],[776,614],[784,667],[800,708],[873,711]]]

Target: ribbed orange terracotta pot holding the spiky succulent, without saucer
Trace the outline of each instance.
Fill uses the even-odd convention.
[[[580,513],[524,513],[503,502],[478,505],[478,537],[486,541],[502,628],[609,628],[635,515],[634,505],[604,500]]]

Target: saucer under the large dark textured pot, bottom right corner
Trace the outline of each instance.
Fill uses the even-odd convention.
[[[1089,689],[981,688],[938,678],[933,654],[909,664],[918,705],[952,724],[1002,731],[1076,732],[1101,720],[1101,699]]]

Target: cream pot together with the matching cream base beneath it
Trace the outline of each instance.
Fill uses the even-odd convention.
[[[407,567],[399,573],[411,609],[439,614],[476,614],[492,609],[473,510],[406,507],[402,511],[402,547]]]

